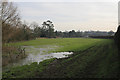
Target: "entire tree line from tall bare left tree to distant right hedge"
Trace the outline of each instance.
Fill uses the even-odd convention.
[[[22,22],[17,6],[12,2],[1,2],[2,21],[2,41],[3,43],[31,40],[38,37],[58,38],[58,37],[89,37],[89,36],[111,36],[113,31],[57,31],[53,22],[46,20],[41,26],[33,22],[30,25]]]

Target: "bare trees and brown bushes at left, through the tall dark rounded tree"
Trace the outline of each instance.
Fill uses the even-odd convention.
[[[36,37],[53,37],[54,25],[50,20],[43,22],[42,27],[21,21],[17,6],[12,2],[1,2],[2,42],[30,40]],[[31,29],[30,27],[34,27]]]

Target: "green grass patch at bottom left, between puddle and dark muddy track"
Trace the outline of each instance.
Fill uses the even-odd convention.
[[[40,73],[49,65],[55,58],[44,60],[39,64],[34,62],[30,65],[14,67],[3,73],[3,78],[37,78]]]

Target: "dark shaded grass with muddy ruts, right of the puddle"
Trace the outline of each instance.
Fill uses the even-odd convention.
[[[118,50],[112,40],[97,44],[69,58],[60,59],[44,71],[47,78],[118,78]]]

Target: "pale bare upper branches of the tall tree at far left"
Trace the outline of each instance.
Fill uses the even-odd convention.
[[[10,24],[17,27],[20,24],[20,16],[17,7],[12,2],[1,2],[2,24]]]

